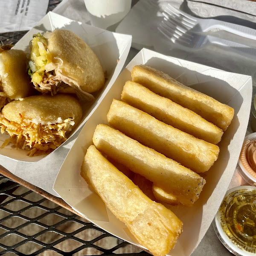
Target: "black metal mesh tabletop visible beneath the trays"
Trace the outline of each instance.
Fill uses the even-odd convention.
[[[60,2],[49,0],[47,12]],[[16,44],[26,32],[0,34],[0,42]],[[0,175],[0,255],[149,255],[19,183]]]

